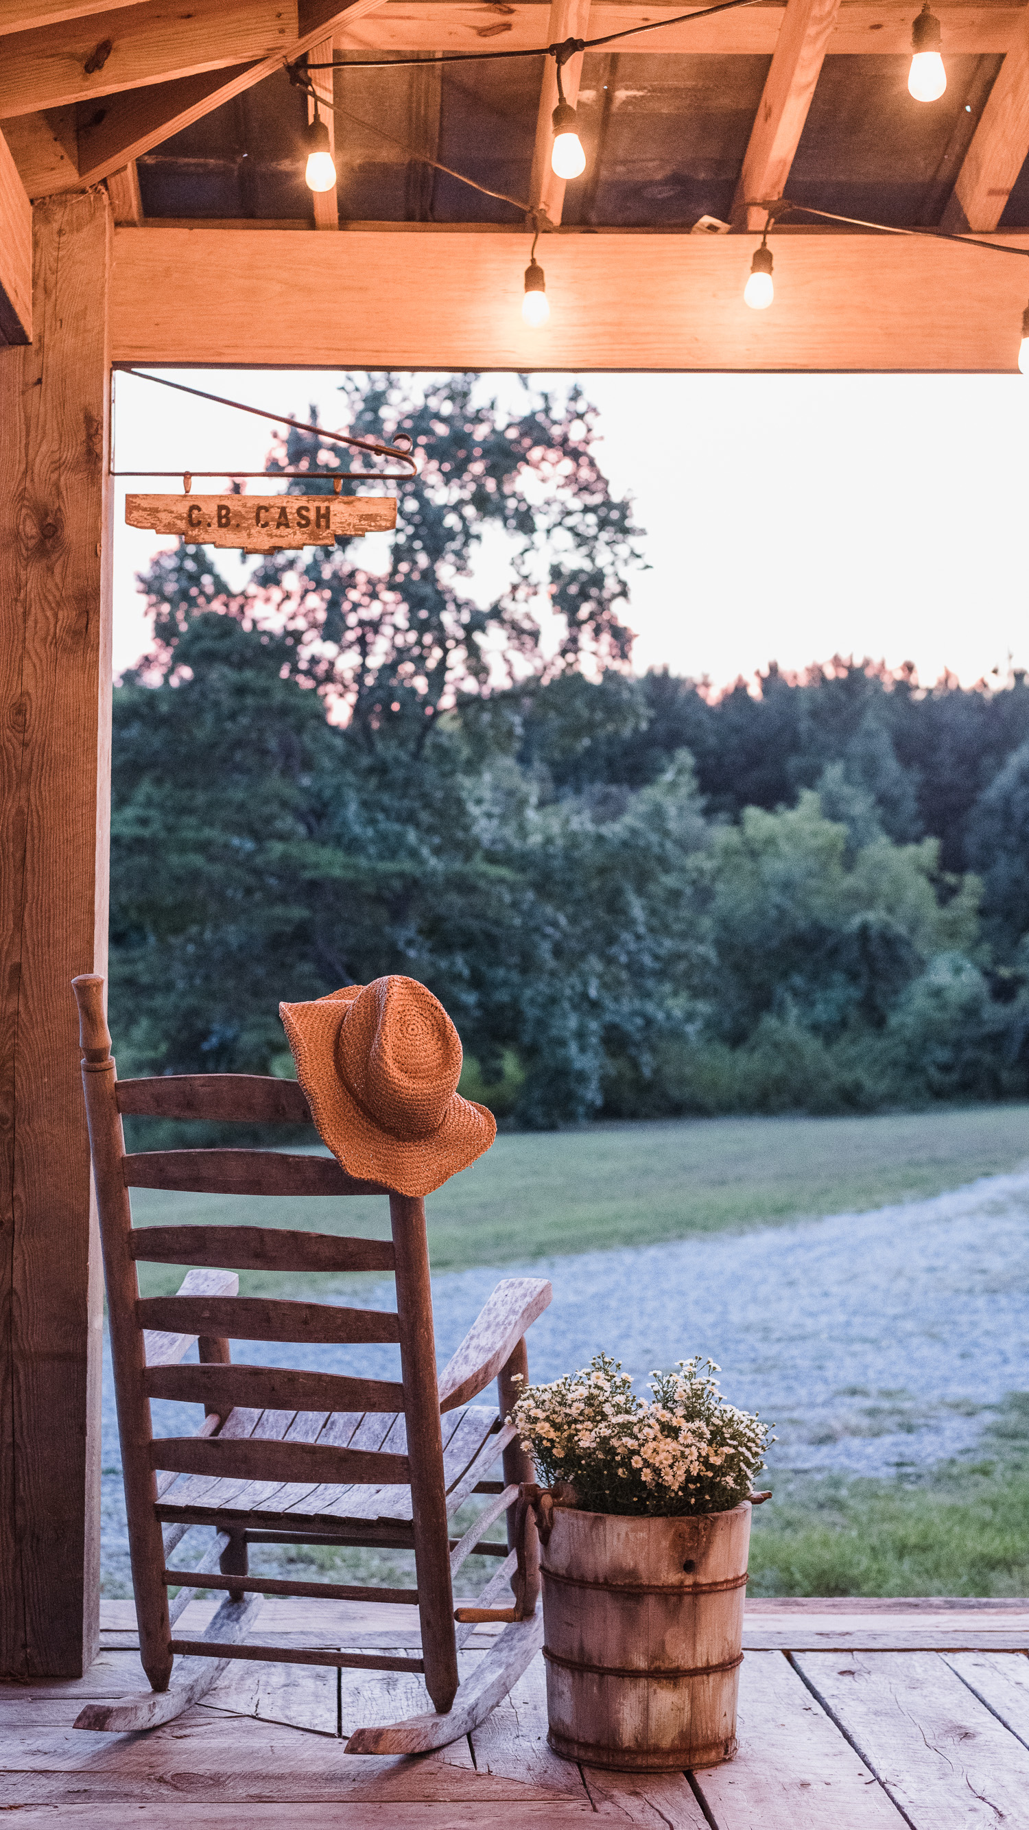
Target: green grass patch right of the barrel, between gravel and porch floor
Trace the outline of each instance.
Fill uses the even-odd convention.
[[[1013,1393],[974,1460],[895,1480],[771,1479],[754,1513],[751,1594],[1024,1596],[1029,1393]]]

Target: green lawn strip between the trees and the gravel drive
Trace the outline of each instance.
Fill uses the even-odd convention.
[[[683,1118],[505,1133],[428,1197],[434,1270],[861,1211],[937,1195],[1029,1160],[1029,1107],[978,1105],[875,1118]],[[137,1224],[260,1221],[388,1233],[383,1200],[287,1200],[135,1190]],[[170,1266],[141,1266],[146,1294]],[[271,1294],[300,1279],[244,1274]],[[342,1285],[341,1285],[342,1286]]]

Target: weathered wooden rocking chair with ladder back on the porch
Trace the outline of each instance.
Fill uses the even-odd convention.
[[[350,1753],[421,1753],[469,1733],[507,1695],[542,1643],[538,1546],[527,1534],[516,1566],[518,1486],[533,1466],[511,1424],[513,1376],[527,1371],[525,1329],[547,1307],[542,1279],[496,1286],[458,1352],[436,1374],[425,1202],[348,1177],[335,1158],[262,1149],[174,1149],[126,1155],[121,1114],[152,1118],[309,1124],[295,1082],[258,1074],[115,1076],[103,1008],[103,979],[73,979],[79,1001],[82,1082],[108,1288],[117,1424],[139,1656],[152,1695],[92,1704],[75,1726],[108,1731],[154,1728],[196,1702],[231,1658],[423,1673],[436,1715],[359,1729]],[[132,1226],[130,1188],[233,1195],[388,1195],[392,1243],[273,1226]],[[178,1296],[139,1297],[137,1259],[194,1266]],[[395,1312],[335,1303],[238,1296],[222,1270],[394,1272]],[[233,1365],[229,1340],[399,1345],[401,1382],[278,1367]],[[181,1365],[192,1341],[200,1365]],[[498,1380],[500,1404],[471,1404]],[[205,1407],[196,1437],[154,1437],[150,1398]],[[489,1479],[502,1460],[504,1479]],[[449,1519],[471,1495],[487,1495],[460,1541]],[[507,1552],[480,1543],[507,1512]],[[518,1508],[524,1515],[525,1508]],[[194,1526],[214,1526],[192,1570],[168,1556]],[[529,1543],[531,1539],[531,1543]],[[370,1545],[414,1550],[416,1588],[364,1588],[247,1574],[247,1545]],[[458,1618],[507,1625],[463,1684],[452,1577],[471,1552],[504,1563],[474,1609]],[[181,1587],[179,1587],[181,1585]],[[179,1588],[168,1605],[168,1587]],[[196,1588],[227,1590],[200,1640],[172,1627]],[[511,1588],[520,1601],[511,1607]],[[417,1603],[421,1658],[324,1647],[244,1643],[262,1596]],[[505,1607],[498,1601],[507,1599]],[[518,1618],[524,1614],[525,1618]],[[179,1656],[172,1682],[172,1665]]]

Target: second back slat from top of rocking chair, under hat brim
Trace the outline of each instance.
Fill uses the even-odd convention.
[[[335,1157],[293,1157],[276,1149],[148,1149],[123,1157],[126,1188],[168,1188],[183,1195],[388,1195],[359,1182]]]

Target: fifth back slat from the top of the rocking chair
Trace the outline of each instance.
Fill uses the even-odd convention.
[[[385,1378],[348,1378],[344,1372],[304,1372],[295,1367],[163,1365],[143,1374],[150,1398],[205,1404],[220,1416],[234,1405],[269,1411],[397,1411],[403,1385]],[[253,1438],[258,1440],[256,1435]]]

